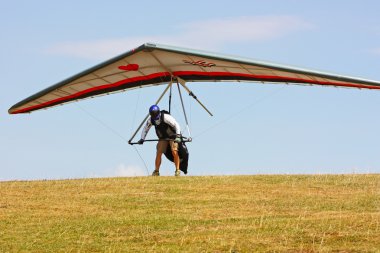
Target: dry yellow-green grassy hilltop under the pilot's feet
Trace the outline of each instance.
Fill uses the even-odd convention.
[[[0,252],[380,252],[380,175],[0,182]]]

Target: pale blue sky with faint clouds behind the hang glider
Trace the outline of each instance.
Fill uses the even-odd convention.
[[[380,80],[379,11],[375,0],[1,1],[0,180],[148,174],[123,138],[163,86],[7,114],[110,57],[151,41]],[[189,86],[215,115],[185,96],[190,175],[380,172],[379,91]],[[153,170],[154,144],[137,149]]]

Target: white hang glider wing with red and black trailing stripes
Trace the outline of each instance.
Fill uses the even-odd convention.
[[[185,82],[244,81],[380,89],[380,82],[246,58],[146,43],[44,89],[9,109],[28,113],[84,98]]]

